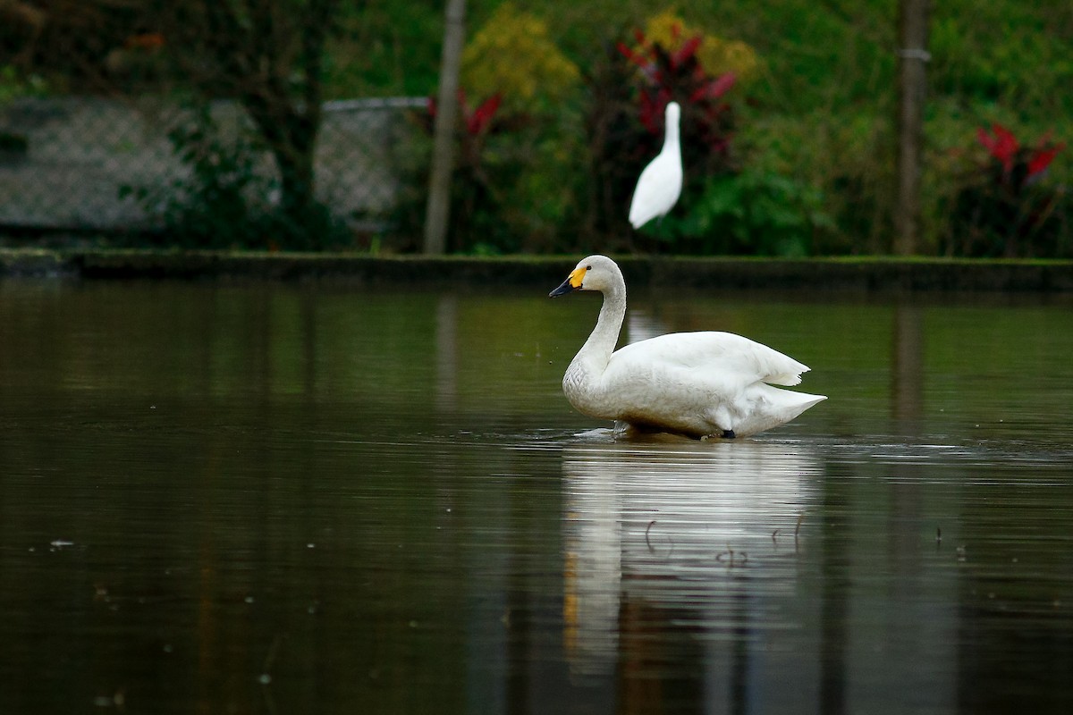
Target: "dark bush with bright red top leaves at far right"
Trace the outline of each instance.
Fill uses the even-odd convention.
[[[1052,257],[1068,254],[1058,244],[1058,211],[1064,191],[1042,182],[1064,148],[1044,137],[1023,146],[1013,132],[994,124],[978,140],[987,157],[969,172],[950,217],[946,251],[967,256]]]

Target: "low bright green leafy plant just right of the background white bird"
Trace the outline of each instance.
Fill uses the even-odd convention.
[[[834,228],[818,189],[746,169],[708,179],[685,217],[656,230],[681,253],[796,257],[822,252]]]

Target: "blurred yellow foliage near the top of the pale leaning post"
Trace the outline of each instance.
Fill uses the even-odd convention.
[[[462,51],[462,87],[475,96],[502,92],[503,104],[533,109],[571,91],[580,72],[548,38],[544,20],[500,5]]]

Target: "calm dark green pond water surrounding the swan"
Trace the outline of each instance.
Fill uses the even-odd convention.
[[[695,443],[545,296],[0,282],[0,712],[1073,712],[1073,297],[637,292],[829,397]]]

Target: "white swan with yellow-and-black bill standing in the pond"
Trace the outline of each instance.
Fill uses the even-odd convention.
[[[603,294],[597,327],[562,378],[570,404],[590,417],[693,437],[734,437],[789,422],[827,399],[771,387],[797,385],[808,368],[730,332],[674,332],[616,351],[626,281],[607,256],[578,263],[549,296],[573,291]]]

